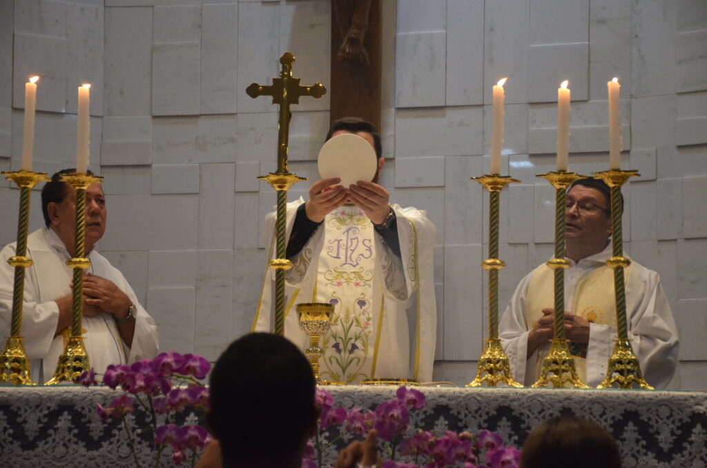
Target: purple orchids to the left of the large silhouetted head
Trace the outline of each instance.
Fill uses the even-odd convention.
[[[106,407],[97,404],[96,412],[104,422],[111,418],[122,419],[136,468],[141,468],[141,463],[133,428],[124,418],[136,409],[145,412],[152,429],[155,467],[160,466],[165,447],[172,448],[171,461],[174,464],[189,460],[194,466],[201,450],[211,441],[211,435],[201,426],[177,426],[177,414],[188,407],[208,409],[209,389],[199,380],[206,378],[210,369],[209,361],[201,356],[182,356],[180,353],[161,353],[152,360],[107,367],[102,385],[113,390],[120,387],[125,393]],[[95,375],[93,369],[84,372],[81,384],[86,387],[98,385]]]

